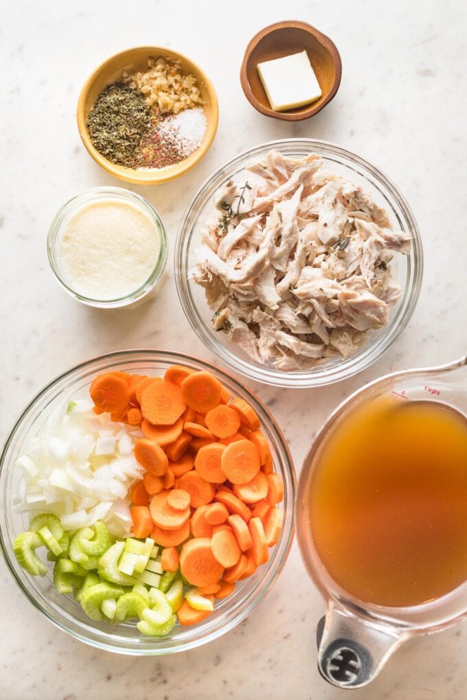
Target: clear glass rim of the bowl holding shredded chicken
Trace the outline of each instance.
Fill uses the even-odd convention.
[[[403,212],[403,216],[407,220],[407,223],[410,225],[410,233],[412,234],[412,250],[410,255],[406,255],[405,258],[407,259],[407,274],[409,272],[413,272],[413,276],[410,280],[410,284],[403,288],[403,296],[401,299],[404,300],[407,297],[408,300],[407,307],[405,307],[403,315],[400,318],[393,316],[389,322],[389,325],[379,331],[379,333],[382,334],[382,337],[384,337],[384,342],[379,342],[377,346],[365,344],[362,349],[362,352],[365,353],[363,356],[360,353],[354,353],[354,355],[351,355],[348,360],[341,363],[340,367],[337,367],[337,369],[329,370],[326,365],[324,365],[323,369],[319,373],[308,372],[307,370],[302,370],[300,372],[279,372],[279,370],[274,370],[274,368],[267,365],[259,365],[258,363],[253,365],[248,359],[244,359],[242,356],[240,356],[239,353],[237,353],[237,349],[226,349],[223,344],[217,342],[211,328],[206,327],[204,330],[204,326],[206,326],[206,324],[202,320],[200,314],[197,312],[197,306],[191,297],[190,288],[188,287],[189,269],[188,265],[186,265],[186,258],[188,256],[188,252],[190,251],[190,238],[193,234],[193,221],[190,221],[190,218],[197,216],[197,214],[193,214],[193,211],[199,211],[201,207],[204,207],[208,196],[207,190],[209,190],[211,183],[218,179],[223,172],[228,169],[233,171],[237,166],[244,163],[247,158],[251,159],[263,155],[271,148],[277,148],[279,151],[281,148],[283,150],[293,148],[297,151],[302,148],[309,149],[309,152],[314,150],[319,152],[321,149],[321,151],[325,150],[328,155],[346,158],[352,164],[361,167],[365,172],[375,177],[375,179],[384,185],[386,194],[396,201],[398,207],[400,207],[401,211]],[[364,158],[361,158],[361,156],[348,151],[346,148],[342,148],[342,146],[338,146],[337,144],[320,139],[293,138],[267,141],[263,144],[259,144],[258,146],[247,148],[245,151],[242,151],[233,158],[225,161],[200,185],[190,202],[188,202],[180,221],[179,232],[176,237],[176,244],[174,246],[176,290],[179,295],[181,307],[183,308],[183,311],[188,318],[188,322],[197,336],[202,340],[202,342],[204,342],[211,352],[215,353],[216,356],[223,361],[223,363],[227,364],[244,377],[248,377],[254,381],[260,381],[263,384],[269,384],[270,386],[282,386],[284,388],[312,388],[316,386],[326,386],[328,384],[333,384],[336,381],[353,377],[354,374],[358,374],[358,372],[361,372],[372,365],[372,363],[374,363],[375,360],[377,360],[396,340],[410,320],[419,298],[423,269],[423,249],[421,246],[421,235],[417,221],[414,218],[412,209],[410,209],[405,197],[403,197],[396,185],[391,181],[391,179],[389,179],[389,177],[386,176],[386,174],[384,174],[384,172],[382,172],[382,170],[377,168],[375,165],[372,165],[372,163]],[[402,302],[398,304],[398,307],[396,308],[397,313],[400,312],[401,308]],[[394,325],[394,321],[396,320],[398,323]]]

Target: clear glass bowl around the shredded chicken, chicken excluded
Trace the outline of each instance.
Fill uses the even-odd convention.
[[[393,228],[409,233],[413,239],[410,254],[395,255],[391,262],[392,275],[400,283],[402,294],[391,309],[389,325],[369,332],[367,342],[354,355],[347,358],[330,358],[325,364],[311,370],[281,372],[272,364],[263,365],[252,360],[239,346],[230,342],[223,332],[216,332],[212,328],[213,311],[209,309],[204,297],[204,289],[190,279],[202,233],[216,211],[215,193],[231,179],[244,183],[248,177],[251,178],[251,174],[246,172],[246,166],[260,160],[272,148],[289,158],[303,158],[309,153],[318,153],[323,158],[327,170],[361,186],[376,204],[386,209]],[[375,362],[398,337],[412,316],[419,297],[423,272],[417,222],[396,186],[379,169],[358,155],[326,141],[313,139],[270,141],[244,151],[216,170],[188,204],[179,228],[175,251],[176,286],[181,305],[193,330],[204,344],[223,362],[246,377],[263,381],[265,384],[295,388],[332,384],[361,372]]]

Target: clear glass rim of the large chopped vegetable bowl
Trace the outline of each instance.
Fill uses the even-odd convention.
[[[216,365],[210,363],[209,360],[197,358],[193,355],[189,355],[188,353],[152,348],[125,349],[111,351],[109,353],[102,353],[99,356],[84,360],[78,365],[74,365],[74,367],[71,367],[69,370],[62,372],[57,377],[49,381],[46,386],[41,388],[41,390],[38,391],[29,401],[9,431],[4,446],[1,449],[0,477],[1,482],[3,483],[8,470],[13,468],[13,463],[6,462],[6,457],[8,456],[8,449],[11,446],[11,443],[18,435],[22,421],[24,421],[31,409],[34,409],[36,403],[39,403],[42,398],[46,397],[48,391],[53,389],[57,384],[60,384],[60,382],[64,379],[67,379],[67,377],[69,377],[71,374],[79,374],[79,372],[88,368],[92,370],[93,365],[97,365],[95,369],[99,370],[102,367],[102,363],[106,363],[111,360],[115,360],[116,363],[124,363],[125,361],[143,363],[144,357],[146,357],[147,360],[153,360],[156,362],[160,361],[162,363],[170,364],[183,364],[183,362],[186,363],[188,361],[188,363],[193,363],[193,365],[201,369],[209,370],[211,372],[214,371],[215,374],[221,375],[221,377],[228,379],[228,381],[230,381],[236,387],[239,387],[251,400],[255,409],[258,409],[258,412],[263,414],[265,419],[267,419],[268,429],[274,433],[274,438],[277,440],[277,449],[279,454],[281,454],[281,472],[286,475],[286,478],[284,479],[284,508],[287,507],[287,514],[286,518],[284,519],[284,535],[283,537],[281,535],[277,545],[277,547],[279,547],[279,545],[281,545],[281,547],[279,547],[277,551],[274,549],[275,554],[277,554],[277,560],[274,561],[274,567],[265,568],[263,570],[263,578],[257,582],[256,587],[249,591],[249,593],[242,598],[241,601],[237,601],[235,616],[223,622],[222,626],[214,627],[213,629],[208,629],[207,631],[202,631],[202,625],[195,626],[195,633],[188,640],[182,639],[176,643],[176,641],[172,642],[172,639],[169,638],[169,643],[172,642],[172,644],[169,645],[160,644],[154,647],[139,647],[138,645],[134,645],[125,647],[125,641],[127,640],[123,640],[123,643],[119,644],[116,640],[122,640],[123,638],[119,637],[118,634],[114,635],[107,632],[103,633],[99,629],[92,627],[90,624],[88,627],[78,624],[74,621],[74,618],[69,615],[69,613],[64,611],[60,615],[60,619],[58,619],[56,613],[54,614],[54,609],[50,604],[48,604],[47,600],[44,600],[44,603],[40,603],[36,600],[36,596],[32,595],[29,590],[27,574],[21,569],[20,573],[22,573],[22,575],[20,576],[13,567],[11,556],[8,552],[8,547],[6,546],[8,535],[6,532],[4,533],[3,522],[0,524],[0,552],[4,555],[6,567],[11,573],[13,580],[15,580],[15,583],[22,591],[22,594],[24,594],[27,600],[34,605],[34,608],[39,610],[39,612],[41,612],[46,619],[57,626],[58,629],[69,633],[72,637],[81,640],[92,647],[97,647],[105,651],[118,654],[127,654],[130,656],[159,656],[193,649],[223,636],[223,634],[237,626],[237,624],[242,622],[242,620],[249,615],[253,608],[256,607],[257,603],[263,599],[265,594],[267,594],[267,591],[269,591],[272,585],[276,582],[288,559],[295,535],[295,495],[297,490],[295,465],[293,463],[291,451],[288,448],[284,434],[263,401],[261,401],[248,386],[244,386],[241,379],[237,379],[237,377],[234,377],[232,374],[230,374],[230,372],[225,371],[223,367],[217,367]],[[78,379],[78,377],[76,377],[76,379]],[[60,388],[60,391],[62,391],[62,388]],[[1,497],[6,498],[6,493],[2,493]],[[5,517],[6,515],[4,514],[3,518]],[[288,523],[288,528],[285,528],[286,522]],[[271,561],[272,558],[269,560],[269,563]],[[268,567],[268,563],[265,566]],[[88,632],[87,629],[90,631]]]

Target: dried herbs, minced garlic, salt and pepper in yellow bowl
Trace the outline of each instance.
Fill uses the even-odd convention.
[[[148,59],[144,72],[123,71],[88,115],[99,153],[132,169],[163,168],[188,158],[204,138],[207,120],[197,78],[178,61]]]

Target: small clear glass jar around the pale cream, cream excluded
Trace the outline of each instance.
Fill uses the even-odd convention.
[[[81,209],[84,204],[90,204],[90,202],[102,200],[120,200],[122,202],[130,202],[131,204],[135,204],[139,209],[143,209],[155,224],[155,230],[158,232],[159,239],[158,258],[155,261],[154,269],[150,276],[148,276],[148,279],[146,279],[141,286],[132,291],[130,294],[110,300],[87,297],[71,288],[71,286],[69,286],[69,282],[67,281],[67,276],[62,268],[60,251],[58,250],[60,235],[64,226],[66,226],[69,222],[71,216],[76,214],[76,211]],[[155,211],[152,204],[150,204],[148,200],[145,200],[144,197],[140,197],[134,192],[130,192],[130,190],[125,190],[121,187],[93,187],[89,190],[84,190],[84,192],[81,192],[79,195],[76,195],[76,197],[73,197],[57,212],[48,232],[47,252],[50,267],[52,267],[57,280],[60,282],[64,290],[66,290],[72,297],[80,302],[83,302],[83,304],[88,304],[88,306],[97,307],[99,309],[117,309],[119,307],[125,307],[139,302],[150,292],[153,290],[155,291],[158,283],[162,283],[162,273],[164,272],[167,262],[167,236],[158,212]]]

